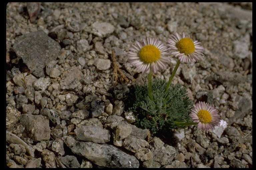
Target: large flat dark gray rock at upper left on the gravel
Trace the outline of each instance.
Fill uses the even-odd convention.
[[[43,44],[43,45],[42,45]],[[42,30],[18,37],[13,45],[17,56],[32,70],[36,77],[44,77],[44,67],[57,59],[60,45]]]

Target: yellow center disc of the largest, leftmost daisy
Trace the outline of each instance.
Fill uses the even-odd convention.
[[[145,45],[140,50],[140,59],[145,63],[153,63],[160,58],[161,52],[154,45]]]

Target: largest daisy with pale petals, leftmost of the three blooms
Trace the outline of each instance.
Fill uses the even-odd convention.
[[[128,61],[137,67],[142,73],[149,73],[150,68],[153,73],[164,69],[171,62],[168,46],[162,41],[154,38],[143,39],[143,42],[136,41],[136,45],[131,45],[128,52]]]

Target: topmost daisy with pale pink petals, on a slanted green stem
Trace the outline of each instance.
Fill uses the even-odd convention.
[[[201,42],[193,41],[191,36],[180,35],[175,33],[168,39],[167,45],[175,57],[183,62],[196,62],[204,55],[204,47],[199,45]]]

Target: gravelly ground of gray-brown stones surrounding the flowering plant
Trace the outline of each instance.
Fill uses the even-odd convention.
[[[181,63],[173,83],[221,123],[153,136],[125,110],[129,88],[147,82],[127,53],[175,32],[205,57]],[[176,62],[154,78],[168,81]],[[6,167],[252,168],[252,3],[8,3]]]

